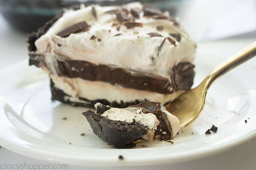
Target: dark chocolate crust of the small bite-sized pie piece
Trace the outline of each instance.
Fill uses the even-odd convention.
[[[83,115],[90,123],[93,133],[116,148],[134,147],[135,144],[132,142],[142,139],[148,132],[147,127],[137,122],[113,121],[93,111],[84,112]]]

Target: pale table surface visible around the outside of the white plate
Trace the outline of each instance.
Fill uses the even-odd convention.
[[[256,37],[247,37],[240,39],[221,40],[219,42],[205,42],[213,43],[213,45],[219,48],[228,48],[226,50],[227,55],[234,54],[237,50],[248,45],[250,42],[256,40]],[[28,59],[26,50],[26,35],[18,33],[12,30],[6,24],[6,22],[0,16],[0,69],[6,68],[15,62],[22,59]],[[256,65],[256,64],[255,64]],[[0,148],[0,165],[1,164],[52,164],[50,162],[44,162],[36,159],[32,159],[26,156],[21,156],[3,147]],[[63,162],[65,163],[65,162]],[[86,166],[86,165],[85,165]],[[2,168],[3,169],[3,168]],[[73,170],[85,170],[92,169],[97,170],[102,167],[77,167],[69,165],[68,169]],[[232,150],[221,153],[215,156],[210,156],[204,159],[198,159],[194,161],[188,161],[183,163],[156,165],[150,167],[108,167],[105,170],[154,170],[154,169],[172,169],[172,170],[256,170],[256,140],[248,141]],[[1,167],[0,167],[1,170]]]

